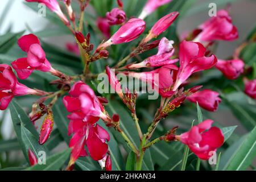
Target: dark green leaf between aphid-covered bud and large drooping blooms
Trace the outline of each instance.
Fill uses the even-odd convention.
[[[66,143],[69,143],[70,137],[68,136],[68,119],[69,114],[65,109],[62,99],[59,99],[52,108],[53,111],[53,121],[57,125],[61,136],[64,138]]]

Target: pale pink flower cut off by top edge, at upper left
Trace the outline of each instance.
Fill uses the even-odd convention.
[[[68,21],[67,17],[61,11],[60,5],[57,2],[57,0],[26,0],[26,1],[27,2],[44,3],[44,5],[46,5],[49,10],[53,11],[54,13],[56,13],[60,17],[60,19],[63,20],[63,22],[65,24],[69,24],[69,21]]]

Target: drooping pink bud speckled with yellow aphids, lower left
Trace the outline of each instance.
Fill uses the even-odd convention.
[[[46,118],[44,118],[43,124],[41,126],[41,131],[39,135],[39,144],[44,144],[49,138],[53,128],[53,114],[52,111],[47,111]]]

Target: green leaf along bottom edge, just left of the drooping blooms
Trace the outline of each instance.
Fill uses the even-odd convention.
[[[25,171],[56,171],[63,167],[66,160],[69,158],[71,154],[71,149],[68,148],[65,151],[59,152],[57,154],[49,156],[46,159],[46,164],[36,164],[35,166],[31,166],[26,168]]]

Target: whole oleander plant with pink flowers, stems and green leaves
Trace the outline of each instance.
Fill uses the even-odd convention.
[[[197,1],[24,0],[51,28],[0,36],[0,169],[255,169],[256,27],[227,2],[179,35]]]

